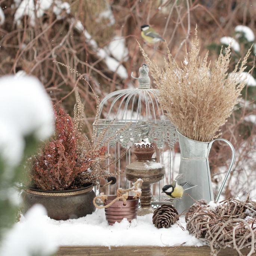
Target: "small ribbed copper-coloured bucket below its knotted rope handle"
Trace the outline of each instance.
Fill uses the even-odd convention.
[[[105,200],[104,204],[111,203],[116,198],[115,195],[108,196],[108,200]],[[113,225],[116,221],[121,222],[123,218],[127,218],[129,222],[132,219],[137,219],[139,199],[133,199],[129,196],[126,201],[126,205],[123,201],[115,201],[110,207],[105,208],[105,215],[109,225]]]

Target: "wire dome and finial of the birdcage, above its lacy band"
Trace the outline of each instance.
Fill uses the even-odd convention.
[[[139,68],[138,88],[117,90],[108,94],[101,102],[101,121],[125,123],[148,121],[149,123],[167,122],[164,111],[157,101],[158,90],[150,88],[149,68],[142,64]]]

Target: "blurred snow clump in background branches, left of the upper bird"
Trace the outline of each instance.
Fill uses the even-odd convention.
[[[115,36],[108,44],[108,49],[111,55],[118,61],[127,61],[128,49],[125,46],[125,39],[123,37]]]

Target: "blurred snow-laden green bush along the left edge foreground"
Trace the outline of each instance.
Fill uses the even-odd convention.
[[[13,187],[21,179],[24,158],[34,152],[38,141],[48,138],[53,130],[52,104],[38,79],[29,76],[1,77],[0,239],[3,241],[0,245],[0,255],[30,256],[35,255],[35,252],[37,255],[48,255],[45,245],[49,242],[49,236],[41,237],[40,231],[37,230],[37,243],[28,245],[30,240],[23,242],[28,239],[25,230],[30,232],[29,227],[20,230],[15,226],[7,233],[6,228],[12,226],[17,215],[18,191]],[[33,224],[30,223],[30,227],[36,229],[34,217],[32,219]],[[46,237],[47,239],[44,239]],[[50,253],[54,250],[52,246],[49,247]]]

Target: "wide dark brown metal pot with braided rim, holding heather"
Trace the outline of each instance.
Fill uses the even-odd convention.
[[[51,219],[67,220],[84,217],[95,211],[92,201],[96,195],[92,189],[92,184],[86,188],[65,191],[25,189],[22,192],[23,211],[27,212],[34,204],[42,204]]]

